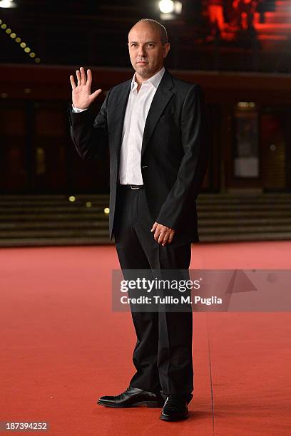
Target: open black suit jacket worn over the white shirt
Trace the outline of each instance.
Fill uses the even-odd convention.
[[[114,234],[121,135],[131,80],[114,86],[95,120],[90,108],[70,113],[71,137],[83,159],[110,152],[110,239]],[[208,162],[203,91],[165,70],[150,105],[143,133],[141,172],[154,222],[175,229],[172,246],[197,242],[195,200]],[[149,229],[150,231],[150,229]]]

